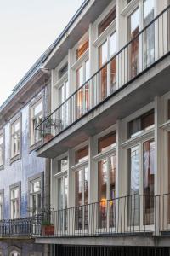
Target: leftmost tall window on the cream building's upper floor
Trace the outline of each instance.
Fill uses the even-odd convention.
[[[59,87],[59,106],[62,105],[69,97],[69,82],[68,79]],[[60,116],[62,125],[66,127],[69,124],[69,102],[65,102],[60,107]]]

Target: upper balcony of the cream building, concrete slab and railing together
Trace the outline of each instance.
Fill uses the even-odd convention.
[[[95,132],[99,132],[99,129],[102,131],[108,125],[112,125],[116,122],[116,119],[132,113],[134,106],[136,109],[141,108],[144,104],[151,102],[155,96],[167,92],[169,59],[166,58],[170,53],[169,20],[170,6],[164,9],[148,26],[145,26],[137,36],[37,126],[37,130],[40,130],[42,134],[42,147],[37,150],[39,156],[55,157],[54,151],[59,151],[64,143],[60,143],[57,148],[54,146],[56,143],[51,143],[50,147],[53,150],[50,153],[48,152],[50,147],[43,148],[44,145],[54,141],[54,138],[64,131],[68,131],[68,128],[77,125],[80,120],[92,113],[88,119],[82,121],[79,129],[88,122],[88,126],[90,126],[90,122],[95,118],[95,110],[98,116],[100,112],[100,122],[97,123],[96,119],[94,123],[97,125],[93,124],[92,127],[88,127],[89,131],[87,133],[90,136],[93,136],[91,133],[94,132],[95,134]],[[165,59],[167,60],[167,66],[163,62]],[[158,66],[160,63],[162,65]],[[150,73],[150,70],[152,70],[152,73]],[[144,74],[148,74],[148,76],[144,77]],[[136,82],[138,79],[140,79],[140,86]],[[131,85],[132,88],[130,88]],[[122,96],[123,91],[125,93]],[[109,107],[99,108],[109,101]],[[106,108],[110,108],[110,110]],[[105,124],[107,124],[107,127]],[[73,129],[73,131],[76,131],[76,129]],[[82,137],[84,136],[83,139],[87,139],[84,132],[81,132]],[[80,137],[80,134],[77,137]],[[75,146],[74,142],[69,145],[69,147],[72,146]],[[61,153],[63,152],[60,149],[59,154]]]

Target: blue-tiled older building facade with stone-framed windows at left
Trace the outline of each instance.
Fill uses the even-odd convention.
[[[49,207],[48,160],[35,149],[35,127],[48,113],[48,72],[41,67],[47,52],[17,84],[0,108],[0,255],[47,255],[31,238],[31,218]],[[46,193],[44,193],[46,191]]]

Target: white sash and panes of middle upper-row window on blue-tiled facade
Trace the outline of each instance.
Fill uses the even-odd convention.
[[[11,125],[11,158],[20,154],[20,118]]]

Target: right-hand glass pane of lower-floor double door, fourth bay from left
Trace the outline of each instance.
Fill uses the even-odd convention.
[[[155,188],[155,142],[143,144],[143,179],[144,179],[144,224],[154,222],[154,188]]]

